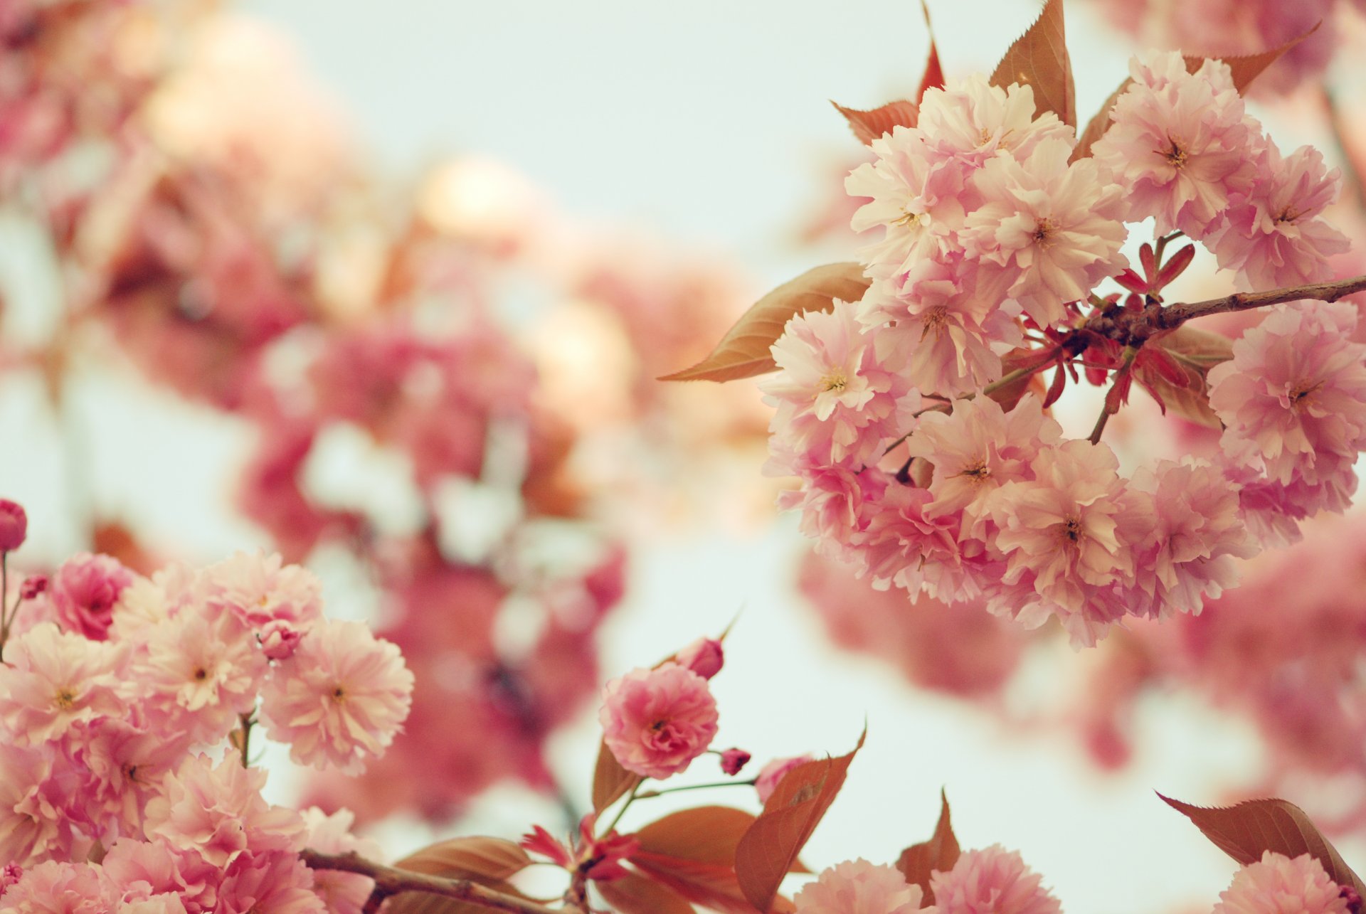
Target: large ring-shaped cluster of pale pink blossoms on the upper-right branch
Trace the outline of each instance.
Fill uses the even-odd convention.
[[[1076,645],[1198,613],[1238,559],[1343,511],[1366,447],[1355,307],[1279,305],[1231,352],[1190,357],[1161,299],[1190,264],[1190,246],[1164,260],[1182,235],[1240,288],[1328,279],[1347,247],[1321,216],[1337,174],[1310,148],[1283,154],[1218,60],[1135,59],[1111,117],[1082,154],[1030,86],[929,89],[917,126],[874,139],[847,180],[866,198],[854,228],[881,231],[867,291],[791,318],[761,383],[766,473],[800,480],[780,504],[822,552],[880,586],[1057,616]],[[1146,220],[1160,239],[1139,273],[1120,247]],[[1091,291],[1106,279],[1123,302]],[[1055,366],[1046,398],[1020,395]],[[1048,410],[1078,368],[1111,388],[1089,440]],[[1101,432],[1135,378],[1160,400],[1194,385],[1218,447],[1121,475]]]

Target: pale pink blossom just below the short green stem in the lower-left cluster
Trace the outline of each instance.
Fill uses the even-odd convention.
[[[208,756],[190,756],[148,802],[148,837],[194,850],[219,868],[242,854],[301,850],[299,814],[261,799],[264,786],[265,772],[245,768],[232,753],[216,765]]]

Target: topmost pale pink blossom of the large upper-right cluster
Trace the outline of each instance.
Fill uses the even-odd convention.
[[[1093,156],[1123,189],[1128,221],[1153,216],[1160,234],[1203,238],[1253,183],[1257,124],[1221,60],[1191,74],[1179,52],[1150,52],[1130,75]]]

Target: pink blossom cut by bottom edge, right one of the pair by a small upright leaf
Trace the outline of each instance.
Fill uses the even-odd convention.
[[[1000,844],[966,851],[949,872],[930,874],[940,914],[1059,914],[1057,899],[1040,883],[1018,853]]]

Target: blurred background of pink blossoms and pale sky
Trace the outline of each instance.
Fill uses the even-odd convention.
[[[1068,4],[1087,115],[1134,48],[1102,5]],[[1257,111],[1283,146],[1350,167],[1355,137],[1325,112],[1362,108],[1341,52],[1361,25],[1317,5],[1326,49]],[[30,514],[20,560],[280,549],[445,690],[369,781],[272,753],[277,797],[358,806],[395,857],[560,831],[586,806],[601,680],[734,622],[719,746],[758,765],[869,730],[814,868],[895,859],[929,835],[941,787],[964,847],[1020,850],[1071,911],[1208,910],[1227,887],[1232,862],[1154,790],[1212,805],[1277,788],[1340,813],[1340,848],[1366,859],[1354,521],[1311,544],[1343,672],[1320,691],[1287,674],[1299,691],[1255,704],[1233,674],[1202,679],[1183,628],[1075,653],[1046,628],[912,613],[813,563],[759,473],[753,384],[652,380],[765,290],[854,258],[841,184],[866,153],[828,100],[914,89],[918,4],[36,10],[0,23],[0,478]],[[989,71],[1035,4],[930,14],[952,77]],[[1093,403],[1070,408],[1089,426]],[[1150,421],[1138,406],[1128,432]],[[1225,612],[1229,637],[1296,624],[1227,622],[1303,596],[1285,587]],[[1315,768],[1320,724],[1348,746]],[[716,801],[755,805],[747,788]]]

